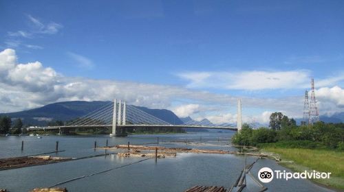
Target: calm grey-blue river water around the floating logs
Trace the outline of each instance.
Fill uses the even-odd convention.
[[[56,156],[83,157],[104,154],[105,150],[94,150],[94,141],[98,146],[156,143],[166,147],[190,147],[202,149],[236,150],[230,147],[233,132],[193,132],[187,134],[147,134],[127,137],[109,136],[8,136],[0,137],[0,158],[26,156],[52,152],[58,141],[58,149],[65,150]],[[200,141],[202,140],[202,143]],[[24,150],[21,152],[21,141]],[[178,141],[178,142],[176,142]],[[183,143],[180,141],[192,141]],[[156,145],[156,144],[148,144]],[[111,153],[111,150],[107,150]],[[50,154],[55,156],[55,154]],[[0,189],[8,191],[30,191],[36,187],[50,187],[72,178],[86,176],[113,167],[127,165],[144,158],[120,158],[116,155],[100,156],[64,163],[24,167],[0,171]],[[247,157],[247,163],[256,158]],[[89,176],[61,184],[68,191],[184,191],[195,185],[224,186],[229,188],[239,176],[245,165],[244,156],[230,154],[185,154],[178,153],[175,158],[144,160],[140,163],[114,169],[98,175]],[[257,179],[261,167],[272,170],[287,170],[274,160],[259,159],[251,173]],[[249,176],[244,191],[259,191],[258,184]],[[330,191],[313,184],[309,180],[272,180],[264,184],[268,191]],[[235,191],[235,190],[234,190]]]

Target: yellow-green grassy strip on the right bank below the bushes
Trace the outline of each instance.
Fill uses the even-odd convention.
[[[330,179],[314,179],[313,182],[333,189],[344,190],[344,152],[330,149],[299,149],[264,145],[262,150],[281,155],[281,165],[293,171],[331,172]],[[288,162],[292,161],[292,163]]]

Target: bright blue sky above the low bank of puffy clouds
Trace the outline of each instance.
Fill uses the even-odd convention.
[[[302,101],[314,77],[325,114],[344,105],[331,89],[343,87],[343,9],[344,1],[0,1],[0,48],[15,50],[18,63],[39,61],[68,78],[173,86],[251,103]],[[81,97],[50,101],[72,98]],[[166,102],[171,109],[207,104],[180,95]],[[248,113],[289,111],[262,106],[250,104]]]

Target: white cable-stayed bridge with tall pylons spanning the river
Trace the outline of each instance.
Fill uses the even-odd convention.
[[[206,128],[220,130],[241,129],[241,103],[238,103],[238,128],[230,127],[228,123],[216,125],[211,122],[189,121],[174,125],[144,112],[135,106],[127,105],[121,100],[109,102],[101,108],[89,112],[83,117],[70,121],[62,126],[30,127],[29,130],[72,130],[76,128],[111,128],[111,136],[125,136],[127,128]]]

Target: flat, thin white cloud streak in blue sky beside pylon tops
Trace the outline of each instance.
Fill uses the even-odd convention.
[[[242,71],[242,72],[189,72],[179,77],[189,81],[190,88],[222,88],[257,91],[264,89],[308,88],[310,72],[299,71]],[[344,80],[343,75],[319,80],[320,86],[333,85]]]

